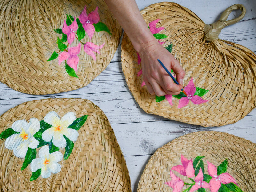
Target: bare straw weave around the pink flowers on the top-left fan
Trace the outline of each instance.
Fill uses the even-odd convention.
[[[95,31],[91,40],[85,35],[83,42],[105,45],[97,54],[97,61],[81,48],[76,78],[67,74],[65,62],[59,66],[58,59],[47,60],[59,50],[56,40],[61,35],[53,29],[62,28],[66,14],[78,18],[85,5],[87,13],[99,7],[100,22],[108,26],[112,35]],[[108,66],[122,33],[103,0],[3,0],[0,14],[0,81],[28,94],[52,94],[86,86]],[[75,39],[72,46],[77,45]]]

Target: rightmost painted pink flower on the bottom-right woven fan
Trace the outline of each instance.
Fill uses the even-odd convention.
[[[221,173],[217,175],[217,168],[210,162],[208,162],[208,173],[212,176],[210,180],[210,190],[211,192],[217,192],[221,186],[221,183],[228,184],[228,183],[236,183],[236,180],[228,173]]]

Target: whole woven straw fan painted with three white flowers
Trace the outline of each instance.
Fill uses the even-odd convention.
[[[131,191],[108,118],[84,99],[20,104],[0,116],[2,191]]]

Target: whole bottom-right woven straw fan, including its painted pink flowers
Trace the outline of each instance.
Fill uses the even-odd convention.
[[[256,145],[228,133],[194,132],[156,150],[137,192],[256,191]]]

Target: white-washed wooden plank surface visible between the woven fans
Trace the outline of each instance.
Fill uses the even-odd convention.
[[[140,10],[159,0],[136,0]],[[226,27],[220,39],[244,45],[256,53],[256,0],[176,0],[176,3],[195,12],[205,23],[217,20],[227,7],[240,3],[247,9],[245,17],[238,24]],[[239,11],[231,13],[228,19],[237,17]],[[204,128],[180,123],[146,114],[129,92],[122,73],[120,45],[105,71],[88,86],[54,95],[28,95],[12,90],[0,83],[0,114],[26,101],[44,98],[84,98],[98,105],[107,115],[131,177],[132,191],[137,190],[140,175],[150,156],[157,148],[181,135],[215,130],[244,137],[256,143],[256,109],[235,124],[223,127]]]

